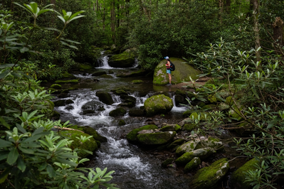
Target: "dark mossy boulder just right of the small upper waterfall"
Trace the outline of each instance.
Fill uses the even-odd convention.
[[[113,68],[130,68],[135,63],[135,55],[131,50],[127,49],[125,52],[113,55],[108,60],[108,65]]]

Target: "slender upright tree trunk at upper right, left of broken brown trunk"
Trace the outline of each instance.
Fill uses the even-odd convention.
[[[261,47],[261,38],[259,36],[259,23],[258,23],[258,17],[260,16],[259,12],[259,0],[253,0],[253,31],[255,33],[255,44],[256,44],[256,50]],[[256,52],[256,61],[261,61],[261,51],[258,50]]]

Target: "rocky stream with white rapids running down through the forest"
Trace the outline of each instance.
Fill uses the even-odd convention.
[[[99,101],[95,93],[98,90],[110,90],[118,87],[130,87],[129,95],[137,99],[136,106],[143,106],[144,101],[151,95],[157,92],[169,92],[174,99],[174,88],[157,87],[152,85],[152,80],[147,77],[135,78],[120,78],[115,75],[125,68],[111,68],[107,64],[107,56],[100,59],[98,71],[112,70],[109,74],[112,78],[93,77],[91,75],[77,74],[75,77],[80,79],[78,90],[70,91],[69,96],[65,99],[72,99],[73,104],[68,104],[63,107],[56,107],[56,111],[61,113],[61,120],[70,120],[71,124],[79,126],[92,126],[99,134],[107,138],[106,143],[102,143],[99,150],[96,151],[88,167],[106,168],[108,171],[115,171],[112,174],[112,183],[116,183],[118,188],[189,188],[189,177],[184,173],[180,173],[174,168],[162,168],[161,159],[154,156],[153,152],[138,148],[133,144],[129,144],[125,135],[132,129],[146,125],[149,121],[148,117],[130,117],[125,114],[124,117],[114,118],[108,114],[121,103],[120,96],[113,95],[115,103],[107,105]],[[127,70],[137,70],[137,63],[133,68]],[[90,82],[90,80],[98,79],[100,82]],[[132,80],[144,80],[144,83],[139,85],[130,84]],[[141,95],[141,93],[147,95]],[[57,97],[56,97],[57,99]],[[93,107],[93,114],[83,114],[85,107]],[[103,111],[97,111],[96,107],[103,108]],[[152,121],[158,123],[172,124],[174,121],[182,120],[182,113],[186,107],[176,107],[171,111],[171,114],[166,117],[154,117]],[[125,120],[124,126],[118,126],[120,119]],[[164,154],[167,156],[167,153]],[[170,154],[168,154],[170,156]]]

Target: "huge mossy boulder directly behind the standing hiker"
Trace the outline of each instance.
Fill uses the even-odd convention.
[[[170,58],[174,63],[176,70],[172,72],[172,84],[190,81],[189,77],[196,80],[197,75],[201,72],[195,70],[191,65],[185,64],[182,58]],[[169,82],[169,77],[166,73],[166,60],[162,60],[154,70],[154,85],[166,85]]]

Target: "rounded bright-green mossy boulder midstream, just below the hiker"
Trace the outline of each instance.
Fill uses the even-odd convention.
[[[172,110],[172,107],[174,107],[172,99],[165,95],[154,95],[144,102],[144,109],[148,117],[156,114],[167,114]]]

